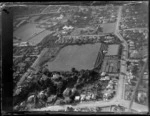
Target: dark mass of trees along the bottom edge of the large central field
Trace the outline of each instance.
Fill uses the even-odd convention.
[[[22,84],[21,92],[14,96],[14,106],[22,101],[26,101],[27,105],[27,98],[30,95],[36,96],[34,100],[36,107],[44,107],[49,103],[57,105],[73,103],[82,87],[98,80],[99,74],[94,70],[77,71],[75,68],[67,72],[50,72],[47,68],[41,68],[32,77],[34,77],[32,81]],[[45,92],[42,98],[39,98],[37,94],[40,91]]]

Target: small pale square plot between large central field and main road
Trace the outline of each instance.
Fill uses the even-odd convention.
[[[108,52],[106,55],[118,55],[119,53],[119,44],[112,44],[108,46]]]

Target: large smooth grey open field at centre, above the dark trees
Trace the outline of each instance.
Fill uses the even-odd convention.
[[[53,62],[48,62],[50,71],[69,71],[72,67],[77,70],[93,69],[100,49],[100,43],[73,45],[63,48]]]

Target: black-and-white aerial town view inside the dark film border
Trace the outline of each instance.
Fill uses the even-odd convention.
[[[149,112],[149,4],[120,2],[14,7],[14,111]]]

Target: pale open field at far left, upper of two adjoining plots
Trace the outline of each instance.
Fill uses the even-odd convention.
[[[42,32],[44,29],[37,28],[36,24],[27,23],[14,31],[14,37],[19,37],[22,42],[27,41],[36,33]]]

